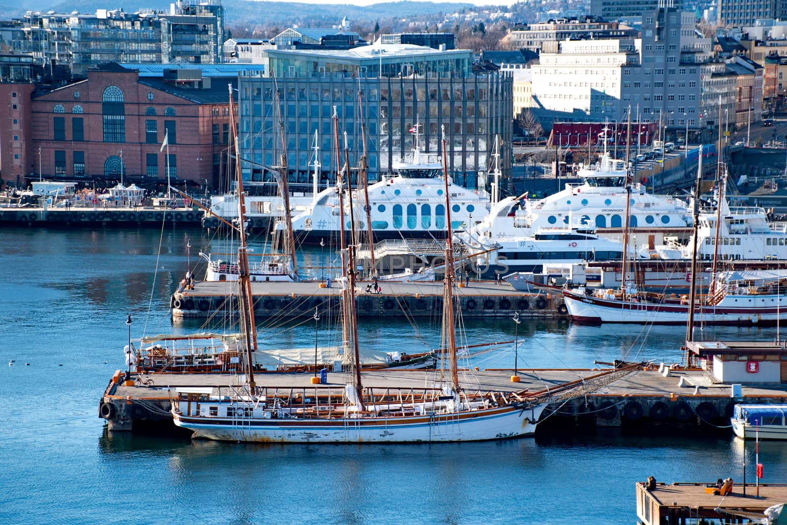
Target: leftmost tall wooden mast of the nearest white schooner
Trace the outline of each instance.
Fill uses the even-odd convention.
[[[249,388],[254,391],[253,354],[257,352],[257,322],[254,320],[254,298],[249,277],[249,253],[246,246],[246,198],[243,195],[243,177],[241,175],[241,153],[238,147],[238,130],[235,128],[235,111],[232,103],[232,84],[230,89],[230,128],[231,140],[235,144],[235,179],[238,187],[238,233],[240,246],[238,247],[238,290],[240,290],[241,335],[246,348],[246,374],[249,378]]]

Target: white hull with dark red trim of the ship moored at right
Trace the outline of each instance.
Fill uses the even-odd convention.
[[[619,301],[567,291],[563,291],[563,300],[571,320],[587,323],[685,324],[689,318],[689,305]],[[735,305],[736,301],[740,306]],[[696,306],[694,315],[704,324],[774,324],[780,310],[783,315],[785,306],[785,296],[764,295],[752,299],[728,295],[719,305]]]

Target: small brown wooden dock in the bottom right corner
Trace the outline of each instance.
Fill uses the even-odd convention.
[[[709,472],[704,483],[656,483],[656,488],[647,490],[645,482],[637,482],[637,518],[641,525],[666,525],[667,523],[708,523],[708,519],[719,519],[719,523],[754,523],[750,518],[734,516],[723,510],[759,512],[787,501],[787,485],[761,483],[759,497],[756,487],[733,479],[732,492],[725,496],[708,494],[707,485],[715,479],[729,477],[725,472]],[[715,479],[710,479],[715,478]],[[764,516],[763,516],[764,517]],[[715,523],[715,522],[714,522]]]

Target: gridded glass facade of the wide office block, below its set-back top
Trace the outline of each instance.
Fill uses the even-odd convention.
[[[438,54],[439,57],[439,54]],[[382,64],[385,69],[385,63]],[[345,68],[347,66],[345,65]],[[273,68],[273,57],[272,57]],[[378,69],[379,71],[379,69]],[[345,71],[346,72],[346,71]],[[455,183],[475,188],[478,172],[488,172],[495,135],[500,135],[501,171],[506,184],[512,160],[512,77],[493,72],[479,76],[241,76],[239,140],[246,179],[272,181],[260,167],[279,164],[281,139],[275,109],[276,86],[292,183],[311,183],[315,131],[322,166],[321,187],[334,181],[336,153],[331,116],[338,116],[339,134],[346,133],[350,165],[358,165],[363,150],[361,126],[366,125],[368,178],[393,171],[415,146],[418,128],[420,150],[430,157],[442,155],[442,130],[447,139],[449,173]],[[359,91],[361,100],[359,102]],[[342,138],[341,163],[344,164]],[[253,163],[253,164],[252,164]],[[353,181],[356,171],[351,172]],[[435,222],[442,220],[435,210]],[[396,219],[394,219],[395,221]]]

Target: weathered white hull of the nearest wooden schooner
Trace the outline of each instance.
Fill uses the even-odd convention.
[[[545,404],[504,406],[434,416],[362,417],[333,420],[207,418],[174,414],[175,424],[200,438],[281,443],[471,442],[533,435]]]

